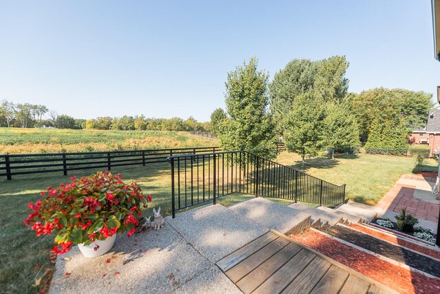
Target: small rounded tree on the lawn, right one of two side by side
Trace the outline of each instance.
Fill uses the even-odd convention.
[[[335,150],[360,147],[359,127],[348,105],[329,103],[325,123],[325,140],[331,148],[331,159]]]

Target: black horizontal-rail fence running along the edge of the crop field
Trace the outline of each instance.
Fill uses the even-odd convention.
[[[0,155],[0,176],[8,180],[14,175],[42,174],[80,169],[108,169],[129,165],[148,165],[167,162],[175,154],[199,154],[221,151],[220,147],[175,149],[145,149],[131,151],[102,151],[54,154],[6,154]]]

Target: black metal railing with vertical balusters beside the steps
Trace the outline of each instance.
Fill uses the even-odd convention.
[[[246,151],[170,156],[171,204],[175,211],[232,193],[336,206],[345,200],[338,186]]]

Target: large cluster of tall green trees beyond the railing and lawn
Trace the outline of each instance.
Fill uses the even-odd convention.
[[[408,145],[406,136],[426,124],[432,94],[383,87],[349,93],[345,56],[294,59],[274,75],[251,58],[228,73],[226,110],[211,115],[212,132],[226,150],[274,156],[277,140],[303,158],[325,149]]]

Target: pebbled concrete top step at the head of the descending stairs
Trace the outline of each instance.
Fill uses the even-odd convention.
[[[239,202],[228,209],[246,220],[286,235],[309,229],[311,224],[309,214],[261,197]]]

